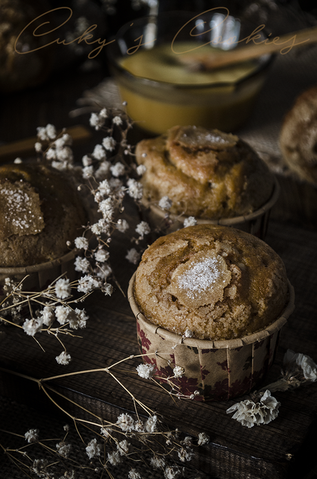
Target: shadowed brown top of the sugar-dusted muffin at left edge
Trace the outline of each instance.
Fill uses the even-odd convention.
[[[63,256],[85,211],[68,177],[43,164],[0,166],[0,267]]]

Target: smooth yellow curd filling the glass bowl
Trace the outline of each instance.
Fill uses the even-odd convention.
[[[219,51],[196,46],[174,43],[174,51],[187,52],[195,47],[191,54],[199,56]],[[118,77],[119,90],[127,102],[127,113],[154,134],[189,124],[235,130],[249,116],[264,81],[263,72],[256,74],[256,61],[209,71],[191,69],[182,63],[181,54],[172,51],[170,43],[139,49],[123,57],[120,64],[125,74]]]

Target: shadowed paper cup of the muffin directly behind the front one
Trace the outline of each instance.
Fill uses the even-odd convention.
[[[246,233],[250,233],[254,236],[264,239],[267,233],[267,225],[269,222],[269,213],[278,199],[280,193],[280,186],[277,179],[274,179],[274,190],[269,200],[258,210],[249,215],[236,216],[232,218],[220,218],[220,219],[201,219],[196,218],[197,224],[219,224],[222,226],[233,226]],[[168,215],[166,212],[143,199],[143,206],[145,206],[145,219],[150,224],[152,229],[161,229],[163,234],[172,233],[180,228],[183,228],[184,221],[187,218],[185,215]]]

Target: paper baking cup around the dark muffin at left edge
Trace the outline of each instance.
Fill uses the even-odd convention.
[[[7,277],[15,282],[23,281],[24,291],[41,291],[49,286],[59,276],[65,274],[70,281],[76,278],[74,270],[74,258],[78,254],[76,248],[65,255],[41,264],[32,266],[0,268],[0,300],[5,296],[3,294],[3,285]]]

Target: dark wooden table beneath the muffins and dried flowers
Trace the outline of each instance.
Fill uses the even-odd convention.
[[[76,99],[81,97],[83,91],[98,84],[104,75],[103,67],[90,73],[69,71],[65,72],[63,78],[54,75],[45,85],[34,90],[1,97],[1,141],[10,142],[34,136],[37,126],[48,123],[55,124],[57,128],[76,125],[79,120],[71,118],[68,112],[76,107]],[[82,117],[80,122],[88,126],[88,116]],[[95,142],[89,140],[76,146],[77,159],[80,160],[82,155],[89,153]],[[284,180],[285,187],[280,202],[272,212],[273,221],[269,225],[266,241],[285,262],[289,280],[295,289],[296,309],[283,329],[276,362],[265,380],[266,384],[278,378],[283,354],[287,349],[305,353],[317,361],[317,220],[314,222],[314,217],[312,220],[309,210],[307,222],[305,214],[301,217],[298,214],[296,221],[292,221],[294,216],[287,208],[292,204],[289,198],[292,197],[293,188],[303,188],[305,191],[307,188],[293,180],[291,183],[289,179],[282,178],[282,182]],[[312,188],[312,192],[313,196],[316,195],[316,188]],[[294,208],[298,213],[298,203]],[[283,218],[287,218],[287,221],[282,221]],[[128,240],[114,242],[112,253],[114,271],[125,292],[134,271],[134,266],[124,260],[128,247]],[[0,365],[41,378],[109,366],[116,360],[139,353],[134,317],[126,297],[123,297],[119,289],[116,289],[111,298],[96,293],[88,299],[86,309],[90,320],[87,328],[81,331],[83,339],[65,341],[73,358],[66,368],[54,360],[61,352],[58,342],[52,338],[41,338],[41,344],[46,350],[44,353],[32,338],[10,328],[6,328],[5,335],[1,338]],[[170,395],[136,375],[135,367],[139,362],[134,358],[125,363],[125,372],[119,373],[125,385],[148,407],[162,414],[170,427],[178,427],[192,436],[197,436],[201,431],[209,434],[210,444],[196,454],[192,463],[210,478],[313,477],[311,470],[316,467],[314,440],[317,434],[317,384],[295,391],[275,393],[282,404],[278,418],[266,426],[247,429],[226,413],[227,407],[234,404],[234,401],[173,402]],[[42,404],[43,398],[39,398],[36,387],[32,388],[23,380],[12,379],[7,373],[1,373],[0,378],[1,395],[27,404],[27,407],[34,405],[36,398],[39,407],[47,407],[44,401]],[[130,396],[116,382],[110,381],[107,375],[101,377],[96,373],[80,378],[74,376],[67,380],[57,380],[54,386],[68,398],[112,420],[116,420],[122,411],[134,411]],[[8,403],[6,407],[6,416],[9,416]],[[53,411],[50,411],[52,414]],[[1,476],[1,470],[0,477],[4,477]],[[13,476],[12,472],[12,477],[19,476]]]

